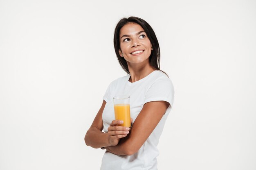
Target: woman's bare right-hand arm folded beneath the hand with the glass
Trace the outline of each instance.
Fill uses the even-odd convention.
[[[118,145],[106,147],[116,155],[133,155],[146,142],[170,104],[166,101],[147,102],[132,125],[130,134]]]

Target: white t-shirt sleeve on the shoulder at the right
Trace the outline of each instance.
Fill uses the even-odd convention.
[[[166,101],[173,106],[174,88],[168,77],[158,78],[148,89],[144,104],[152,101]]]

